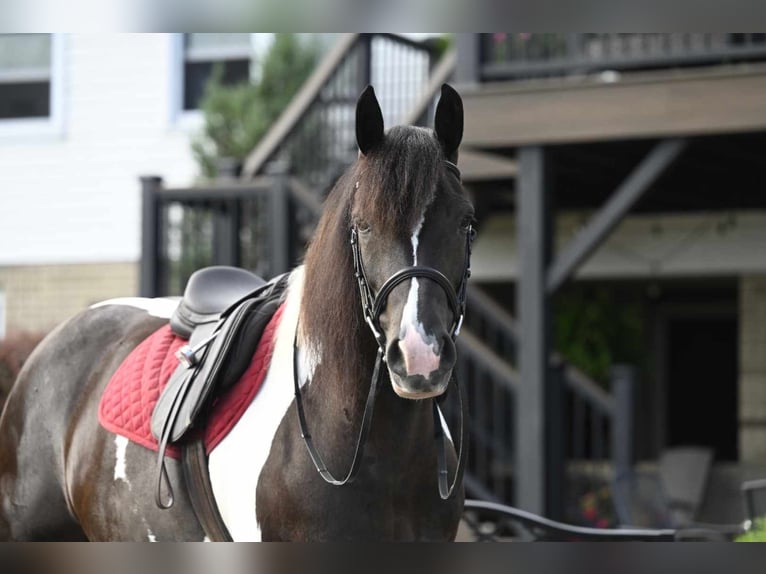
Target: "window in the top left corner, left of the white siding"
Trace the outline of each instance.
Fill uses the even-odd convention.
[[[0,120],[52,115],[51,47],[51,34],[0,34]]]

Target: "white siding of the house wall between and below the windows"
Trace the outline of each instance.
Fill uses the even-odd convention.
[[[0,122],[0,266],[134,261],[138,177],[197,173],[173,117],[168,34],[71,34],[62,42],[62,128],[6,135]]]

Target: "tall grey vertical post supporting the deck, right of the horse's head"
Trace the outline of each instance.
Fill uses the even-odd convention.
[[[549,297],[545,274],[551,250],[551,213],[547,154],[540,146],[519,151],[516,227],[519,269],[516,314],[519,317],[521,389],[516,401],[516,497],[518,506],[543,514],[546,495],[545,414],[550,356]]]

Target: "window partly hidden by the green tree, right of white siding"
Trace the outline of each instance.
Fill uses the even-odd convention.
[[[250,79],[250,34],[184,34],[183,109],[195,110],[215,65],[223,67],[223,83]]]

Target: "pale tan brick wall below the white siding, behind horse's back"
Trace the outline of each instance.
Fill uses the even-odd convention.
[[[6,332],[49,331],[92,303],[138,293],[137,263],[0,266]]]

